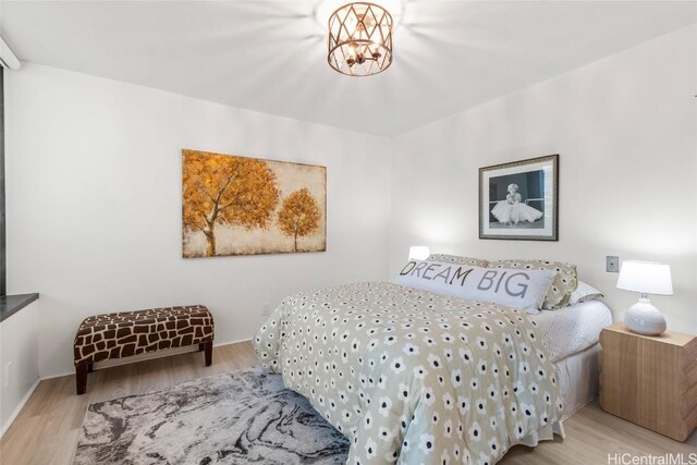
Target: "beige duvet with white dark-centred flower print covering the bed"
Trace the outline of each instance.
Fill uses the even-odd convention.
[[[348,464],[493,464],[561,418],[525,313],[366,282],[285,298],[254,341],[267,370],[351,441]]]

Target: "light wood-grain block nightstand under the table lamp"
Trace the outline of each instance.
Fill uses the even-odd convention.
[[[600,406],[684,441],[697,427],[697,336],[631,332],[615,323],[600,333]]]

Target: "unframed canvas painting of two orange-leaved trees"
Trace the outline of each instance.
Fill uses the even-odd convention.
[[[185,258],[327,249],[327,168],[182,150]]]

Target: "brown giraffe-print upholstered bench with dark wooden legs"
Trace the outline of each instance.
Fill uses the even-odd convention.
[[[87,372],[107,359],[198,344],[212,363],[213,317],[203,305],[151,308],[86,318],[75,335],[77,394],[87,390]]]

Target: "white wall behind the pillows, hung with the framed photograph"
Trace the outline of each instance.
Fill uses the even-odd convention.
[[[697,333],[695,95],[693,26],[394,138],[391,272],[415,244],[564,260],[621,318],[637,295],[615,289],[606,255],[667,261],[675,295],[651,299],[669,329]],[[479,240],[478,169],[550,154],[560,241]]]

